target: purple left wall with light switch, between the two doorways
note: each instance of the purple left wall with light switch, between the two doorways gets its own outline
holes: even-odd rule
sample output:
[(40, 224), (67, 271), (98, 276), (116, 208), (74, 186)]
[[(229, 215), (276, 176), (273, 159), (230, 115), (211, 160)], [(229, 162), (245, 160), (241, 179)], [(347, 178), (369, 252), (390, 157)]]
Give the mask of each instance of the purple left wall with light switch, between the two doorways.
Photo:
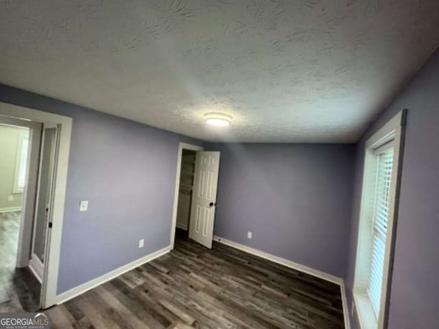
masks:
[(169, 245), (178, 141), (198, 141), (8, 86), (0, 101), (73, 118), (58, 293)]

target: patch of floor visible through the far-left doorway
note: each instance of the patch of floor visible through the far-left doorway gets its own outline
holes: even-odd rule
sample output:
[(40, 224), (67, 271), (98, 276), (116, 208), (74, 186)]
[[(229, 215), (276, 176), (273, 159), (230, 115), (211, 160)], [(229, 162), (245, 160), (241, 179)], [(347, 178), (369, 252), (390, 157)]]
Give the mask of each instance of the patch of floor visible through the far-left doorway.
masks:
[(40, 282), (29, 269), (16, 269), (21, 212), (0, 213), (0, 313), (34, 312)]

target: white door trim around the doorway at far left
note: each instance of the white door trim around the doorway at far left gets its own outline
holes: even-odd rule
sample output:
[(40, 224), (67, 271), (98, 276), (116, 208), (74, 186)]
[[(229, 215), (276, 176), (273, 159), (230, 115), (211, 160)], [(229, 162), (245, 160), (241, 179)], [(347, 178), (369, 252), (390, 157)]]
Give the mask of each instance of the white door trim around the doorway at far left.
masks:
[(62, 221), (64, 219), (72, 119), (59, 114), (23, 108), (3, 102), (0, 102), (0, 115), (25, 121), (54, 124), (58, 126), (60, 133), (54, 175), (54, 199), (51, 204), (53, 227), (47, 234), (45, 251), (45, 260), (47, 261), (40, 296), (40, 307), (47, 308), (58, 302), (58, 269), (60, 265)]

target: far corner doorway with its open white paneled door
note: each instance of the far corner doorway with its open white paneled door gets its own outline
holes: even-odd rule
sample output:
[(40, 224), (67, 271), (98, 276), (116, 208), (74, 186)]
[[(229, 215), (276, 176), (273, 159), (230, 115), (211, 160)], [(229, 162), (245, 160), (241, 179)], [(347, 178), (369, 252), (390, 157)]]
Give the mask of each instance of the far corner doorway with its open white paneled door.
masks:
[(215, 221), (219, 152), (180, 143), (178, 148), (174, 218), (175, 239), (191, 239), (211, 248)]

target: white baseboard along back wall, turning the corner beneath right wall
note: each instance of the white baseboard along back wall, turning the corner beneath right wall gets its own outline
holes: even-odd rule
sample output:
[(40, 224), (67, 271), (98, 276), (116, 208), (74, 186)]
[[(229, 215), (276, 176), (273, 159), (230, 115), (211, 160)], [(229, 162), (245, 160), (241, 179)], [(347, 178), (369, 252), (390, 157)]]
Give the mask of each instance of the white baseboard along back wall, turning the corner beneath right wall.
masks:
[(221, 236), (213, 236), (213, 241), (223, 243), (224, 245), (234, 247), (236, 249), (242, 250), (243, 252), (248, 252), (249, 254), (259, 256), (259, 257), (265, 258), (267, 260), (271, 260), (273, 263), (281, 264), (283, 266), (289, 267), (290, 269), (296, 269), (297, 271), (301, 271), (301, 272), (307, 273), (311, 276), (316, 276), (317, 278), (320, 278), (320, 279), (323, 279), (323, 280), (340, 285), (340, 292), (342, 294), (342, 304), (343, 304), (344, 326), (346, 329), (351, 328), (351, 325), (349, 322), (348, 305), (347, 305), (347, 300), (346, 300), (346, 289), (344, 288), (344, 280), (342, 278), (339, 278), (338, 276), (333, 276), (333, 275), (331, 275), (329, 273), (325, 273), (323, 271), (319, 271), (318, 269), (312, 269), (311, 267), (307, 267), (305, 265), (294, 263), (291, 260), (287, 260), (285, 258), (274, 256), (274, 255), (268, 254), (266, 252), (261, 252), (261, 250), (254, 249), (254, 248), (248, 247), (246, 245), (241, 245), (241, 243), (237, 243), (234, 241), (224, 239)]

